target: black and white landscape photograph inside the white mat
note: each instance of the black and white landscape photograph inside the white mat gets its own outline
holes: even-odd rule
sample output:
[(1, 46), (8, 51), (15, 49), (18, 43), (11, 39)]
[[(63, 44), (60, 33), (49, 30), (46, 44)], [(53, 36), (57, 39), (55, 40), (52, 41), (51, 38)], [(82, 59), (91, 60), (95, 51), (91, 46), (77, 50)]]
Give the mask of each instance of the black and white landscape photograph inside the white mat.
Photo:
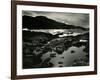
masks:
[(89, 66), (89, 14), (22, 11), (23, 69)]

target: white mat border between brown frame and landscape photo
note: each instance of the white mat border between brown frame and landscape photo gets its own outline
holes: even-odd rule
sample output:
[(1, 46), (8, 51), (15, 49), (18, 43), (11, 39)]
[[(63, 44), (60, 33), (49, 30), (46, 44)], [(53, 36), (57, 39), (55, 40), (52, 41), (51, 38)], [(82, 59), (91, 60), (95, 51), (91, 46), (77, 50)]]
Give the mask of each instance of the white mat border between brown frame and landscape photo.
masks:
[[(22, 69), (22, 10), (48, 11), (48, 12), (74, 12), (90, 14), (90, 66), (82, 67), (63, 67), (63, 68), (41, 68), (41, 69)], [(50, 73), (69, 73), (94, 71), (94, 9), (81, 8), (58, 8), (43, 6), (17, 5), (17, 75), (37, 75)]]

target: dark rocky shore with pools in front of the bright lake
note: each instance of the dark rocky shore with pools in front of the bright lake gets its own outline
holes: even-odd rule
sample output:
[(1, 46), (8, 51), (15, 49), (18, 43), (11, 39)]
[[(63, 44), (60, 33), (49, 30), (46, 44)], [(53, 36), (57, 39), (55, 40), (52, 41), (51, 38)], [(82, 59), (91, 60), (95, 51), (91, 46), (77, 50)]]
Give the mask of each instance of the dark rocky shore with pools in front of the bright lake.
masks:
[(64, 37), (43, 32), (29, 34), (23, 38), (23, 68), (89, 65), (89, 33)]

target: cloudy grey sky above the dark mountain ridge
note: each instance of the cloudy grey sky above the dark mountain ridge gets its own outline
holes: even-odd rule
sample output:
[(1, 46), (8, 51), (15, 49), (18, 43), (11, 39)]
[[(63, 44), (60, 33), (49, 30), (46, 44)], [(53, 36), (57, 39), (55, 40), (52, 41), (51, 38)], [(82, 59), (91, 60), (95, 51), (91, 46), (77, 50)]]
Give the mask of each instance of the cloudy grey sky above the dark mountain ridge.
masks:
[(89, 28), (89, 14), (84, 13), (64, 13), (64, 12), (40, 12), (40, 11), (22, 11), (22, 15), (27, 16), (45, 16), (69, 25)]

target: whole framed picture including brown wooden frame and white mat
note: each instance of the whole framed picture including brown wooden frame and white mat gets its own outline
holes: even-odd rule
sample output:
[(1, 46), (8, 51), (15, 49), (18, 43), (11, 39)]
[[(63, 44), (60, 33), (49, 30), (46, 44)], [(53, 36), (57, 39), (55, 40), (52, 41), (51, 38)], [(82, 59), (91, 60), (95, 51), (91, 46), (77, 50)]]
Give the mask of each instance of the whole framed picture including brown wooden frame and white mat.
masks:
[(13, 79), (97, 73), (97, 7), (12, 2)]

